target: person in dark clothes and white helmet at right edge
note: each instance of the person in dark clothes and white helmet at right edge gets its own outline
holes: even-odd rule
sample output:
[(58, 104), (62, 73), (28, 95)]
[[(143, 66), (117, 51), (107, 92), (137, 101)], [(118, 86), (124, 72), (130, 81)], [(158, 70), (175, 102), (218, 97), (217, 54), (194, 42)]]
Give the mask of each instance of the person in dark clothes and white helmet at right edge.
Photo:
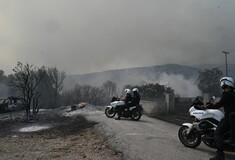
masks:
[[(223, 107), (225, 116), (219, 122), (215, 131), (215, 143), (216, 143), (216, 156), (210, 158), (210, 160), (224, 160), (224, 146), (223, 146), (223, 135), (225, 132), (230, 130), (229, 116), (232, 112), (235, 112), (235, 92), (234, 92), (234, 81), (231, 77), (223, 77), (220, 79), (220, 86), (223, 89), (223, 94), (219, 102), (215, 104), (208, 104), (206, 108), (218, 109)], [(234, 122), (233, 122), (234, 123)], [(233, 129), (234, 130), (234, 129)], [(235, 135), (233, 135), (235, 136)]]

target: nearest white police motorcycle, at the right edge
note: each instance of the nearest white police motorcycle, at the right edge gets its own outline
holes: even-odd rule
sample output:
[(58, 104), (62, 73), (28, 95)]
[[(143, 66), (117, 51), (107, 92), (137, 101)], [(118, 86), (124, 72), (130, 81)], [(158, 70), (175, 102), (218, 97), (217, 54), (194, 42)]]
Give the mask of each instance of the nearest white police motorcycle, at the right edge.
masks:
[[(215, 97), (212, 98), (214, 100)], [(193, 123), (183, 123), (179, 128), (178, 137), (183, 145), (196, 148), (201, 141), (208, 147), (215, 148), (214, 133), (224, 114), (218, 109), (204, 109), (202, 101), (197, 97), (189, 109), (190, 116), (194, 118)], [(230, 132), (225, 133), (224, 139), (230, 137)], [(225, 143), (226, 151), (235, 151), (233, 144)]]

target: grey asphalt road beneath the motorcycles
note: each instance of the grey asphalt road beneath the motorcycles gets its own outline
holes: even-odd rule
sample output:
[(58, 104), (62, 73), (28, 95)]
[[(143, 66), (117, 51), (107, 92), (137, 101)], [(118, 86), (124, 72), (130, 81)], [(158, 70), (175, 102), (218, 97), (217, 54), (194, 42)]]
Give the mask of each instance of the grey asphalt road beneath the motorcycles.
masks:
[[(180, 126), (143, 115), (140, 121), (107, 118), (103, 111), (82, 112), (99, 122), (96, 129), (126, 160), (208, 160), (215, 150), (204, 144), (196, 149), (184, 147), (178, 139)], [(235, 153), (226, 152), (226, 160)]]

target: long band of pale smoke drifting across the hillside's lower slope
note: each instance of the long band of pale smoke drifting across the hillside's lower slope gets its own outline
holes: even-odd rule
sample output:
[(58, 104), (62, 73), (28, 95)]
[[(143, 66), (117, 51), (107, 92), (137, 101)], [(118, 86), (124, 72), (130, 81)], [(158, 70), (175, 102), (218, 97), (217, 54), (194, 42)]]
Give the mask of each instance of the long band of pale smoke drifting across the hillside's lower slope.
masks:
[(118, 94), (123, 93), (123, 89), (126, 85), (144, 85), (144, 84), (156, 84), (165, 85), (171, 87), (176, 96), (180, 97), (195, 97), (200, 96), (202, 93), (198, 88), (196, 82), (197, 76), (190, 76), (190, 78), (185, 78), (184, 75), (180, 73), (169, 74), (166, 72), (156, 71), (133, 71), (125, 70), (122, 72), (101, 72), (99, 74), (94, 74), (93, 76), (81, 75), (73, 79), (73, 77), (65, 79), (65, 88), (72, 89), (76, 83), (87, 84), (91, 86), (101, 86), (107, 80), (111, 80), (117, 84)]

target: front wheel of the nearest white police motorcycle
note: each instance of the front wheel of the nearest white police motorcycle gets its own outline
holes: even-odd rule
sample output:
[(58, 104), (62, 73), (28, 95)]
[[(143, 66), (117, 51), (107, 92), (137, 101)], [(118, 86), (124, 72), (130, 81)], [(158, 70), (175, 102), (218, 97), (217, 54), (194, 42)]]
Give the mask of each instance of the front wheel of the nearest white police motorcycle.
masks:
[(201, 136), (198, 135), (195, 131), (188, 133), (188, 126), (181, 126), (178, 131), (178, 137), (180, 142), (189, 148), (196, 148), (201, 144)]

